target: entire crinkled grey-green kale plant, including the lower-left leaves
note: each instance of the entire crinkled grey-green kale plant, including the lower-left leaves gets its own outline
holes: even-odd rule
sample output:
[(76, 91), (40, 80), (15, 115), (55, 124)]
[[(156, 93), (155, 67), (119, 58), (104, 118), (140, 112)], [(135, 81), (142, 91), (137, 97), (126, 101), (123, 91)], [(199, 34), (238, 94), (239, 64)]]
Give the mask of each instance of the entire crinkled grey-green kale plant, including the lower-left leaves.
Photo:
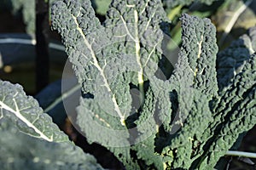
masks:
[[(221, 169), (219, 160), (255, 125), (254, 28), (218, 54), (211, 20), (183, 14), (174, 65), (165, 44), (172, 41), (170, 21), (160, 0), (113, 0), (103, 24), (90, 0), (61, 0), (52, 6), (51, 20), (82, 90), (77, 127), (126, 169)], [(0, 109), (7, 138), (0, 139), (1, 151), (10, 148), (10, 139), (42, 150), (26, 152), (15, 142), (13, 159), (0, 156), (5, 169), (25, 162), (43, 169), (102, 168), (20, 86), (0, 82)], [(56, 151), (57, 161), (45, 163), (55, 158), (47, 159), (45, 150)], [(28, 161), (20, 159), (23, 154)]]

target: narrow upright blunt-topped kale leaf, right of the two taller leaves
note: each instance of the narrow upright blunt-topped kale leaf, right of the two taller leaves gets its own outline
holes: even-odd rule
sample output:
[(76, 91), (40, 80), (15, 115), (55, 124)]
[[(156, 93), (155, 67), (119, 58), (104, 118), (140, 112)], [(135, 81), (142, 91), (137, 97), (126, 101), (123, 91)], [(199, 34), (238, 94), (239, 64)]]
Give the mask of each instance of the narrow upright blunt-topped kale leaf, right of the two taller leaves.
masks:
[[(218, 52), (215, 37), (216, 29), (209, 19), (201, 20), (183, 14), (181, 20), (183, 44), (180, 58), (185, 55), (189, 61), (189, 69), (194, 75), (188, 78), (192, 79), (193, 88), (200, 90), (203, 94), (208, 94), (209, 99), (212, 99), (212, 97), (218, 95), (217, 73), (215, 70), (215, 60)], [(178, 69), (184, 70), (183, 68)], [(189, 71), (187, 70), (184, 75), (190, 75)], [(180, 83), (180, 85), (183, 85), (183, 83)]]

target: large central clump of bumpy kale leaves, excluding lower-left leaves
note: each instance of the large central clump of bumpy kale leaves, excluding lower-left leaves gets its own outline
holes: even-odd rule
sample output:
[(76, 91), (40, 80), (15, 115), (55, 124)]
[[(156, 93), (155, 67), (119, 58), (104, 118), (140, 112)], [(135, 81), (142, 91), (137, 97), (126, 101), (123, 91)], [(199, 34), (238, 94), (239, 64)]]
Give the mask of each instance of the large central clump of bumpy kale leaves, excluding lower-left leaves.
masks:
[(255, 124), (255, 56), (218, 88), (215, 27), (188, 14), (181, 20), (182, 47), (166, 78), (157, 74), (168, 26), (160, 0), (113, 0), (103, 25), (89, 0), (52, 8), (53, 27), (92, 96), (81, 99), (77, 123), (127, 169), (212, 169)]

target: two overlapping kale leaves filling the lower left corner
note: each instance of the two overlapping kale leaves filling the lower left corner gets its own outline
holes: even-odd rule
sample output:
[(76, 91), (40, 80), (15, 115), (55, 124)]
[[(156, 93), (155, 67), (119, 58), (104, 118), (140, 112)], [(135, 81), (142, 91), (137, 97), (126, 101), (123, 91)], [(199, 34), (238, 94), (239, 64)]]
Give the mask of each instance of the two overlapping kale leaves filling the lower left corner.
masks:
[(0, 80), (0, 108), (1, 169), (102, 169), (20, 85)]

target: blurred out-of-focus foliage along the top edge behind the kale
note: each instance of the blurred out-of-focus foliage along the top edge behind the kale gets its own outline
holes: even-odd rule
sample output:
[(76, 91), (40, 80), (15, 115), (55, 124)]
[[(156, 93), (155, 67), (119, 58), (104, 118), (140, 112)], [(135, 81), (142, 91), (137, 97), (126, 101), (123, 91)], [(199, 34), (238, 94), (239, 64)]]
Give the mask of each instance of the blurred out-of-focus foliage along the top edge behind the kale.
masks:
[[(49, 6), (55, 1), (49, 0)], [(218, 38), (223, 38), (222, 44), (230, 42), (228, 37), (236, 39), (241, 36), (256, 23), (256, 1), (253, 0), (162, 0), (162, 2), (168, 18), (172, 21), (170, 27), (172, 37), (178, 37), (179, 17), (183, 13), (211, 18), (217, 26)], [(111, 0), (91, 0), (91, 3), (96, 10), (96, 15), (104, 21)], [(23, 20), (26, 33), (31, 36), (35, 32), (34, 8), (35, 0), (2, 0), (0, 2), (1, 14), (11, 12), (17, 19)], [(232, 22), (231, 26), (230, 22)], [(230, 31), (231, 34), (224, 38), (222, 34), (225, 31)], [(228, 41), (225, 42), (225, 40)]]

